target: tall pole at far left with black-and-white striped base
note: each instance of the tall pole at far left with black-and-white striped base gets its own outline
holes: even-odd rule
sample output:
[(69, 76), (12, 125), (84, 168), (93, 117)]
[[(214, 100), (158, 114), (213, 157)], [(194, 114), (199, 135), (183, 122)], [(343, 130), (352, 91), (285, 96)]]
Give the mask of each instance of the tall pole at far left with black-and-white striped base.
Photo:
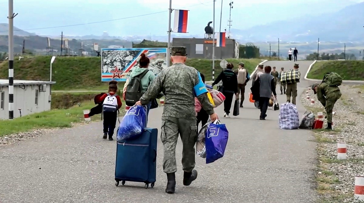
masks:
[(9, 0), (9, 120), (14, 119), (14, 17), (13, 0)]

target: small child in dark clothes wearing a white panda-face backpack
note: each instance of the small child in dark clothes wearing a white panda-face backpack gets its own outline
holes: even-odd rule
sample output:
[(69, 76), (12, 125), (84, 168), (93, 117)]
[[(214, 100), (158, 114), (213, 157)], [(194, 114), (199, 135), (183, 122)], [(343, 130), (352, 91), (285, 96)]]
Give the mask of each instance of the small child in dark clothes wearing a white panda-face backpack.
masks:
[(120, 97), (116, 94), (116, 92), (118, 91), (117, 84), (118, 81), (110, 81), (108, 93), (100, 97), (99, 103), (102, 103), (102, 113), (104, 118), (104, 135), (102, 139), (107, 139), (108, 135), (109, 140), (113, 140), (112, 135), (114, 135), (118, 111), (122, 106)]

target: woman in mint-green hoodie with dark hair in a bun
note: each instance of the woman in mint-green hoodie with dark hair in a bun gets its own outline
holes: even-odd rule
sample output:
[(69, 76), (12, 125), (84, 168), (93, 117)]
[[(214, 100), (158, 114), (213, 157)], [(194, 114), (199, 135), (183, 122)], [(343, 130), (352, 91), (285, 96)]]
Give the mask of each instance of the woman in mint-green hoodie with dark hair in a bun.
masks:
[[(135, 67), (132, 72), (130, 73), (130, 76), (128, 78), (129, 83), (125, 84), (126, 87), (124, 87), (124, 91), (126, 94), (126, 98), (127, 97), (139, 97), (138, 95), (140, 95), (140, 97), (147, 91), (148, 86), (154, 81), (155, 75), (153, 73), (153, 71), (148, 70), (150, 64), (150, 60), (149, 58), (145, 55), (145, 53), (141, 54), (141, 58), (139, 59), (139, 66)], [(141, 88), (141, 92), (137, 93), (137, 92), (128, 92), (128, 85), (132, 85), (130, 84), (133, 80), (133, 78), (135, 77), (140, 77), (140, 83), (139, 86)], [(134, 80), (135, 81), (135, 80)], [(128, 95), (127, 95), (128, 94)], [(133, 95), (132, 95), (133, 94)], [(137, 94), (137, 95), (134, 95)], [(136, 101), (139, 101), (139, 98), (136, 98)], [(125, 100), (127, 101), (127, 100)], [(150, 110), (150, 106), (151, 106), (151, 102), (149, 102), (147, 104), (147, 117), (149, 115), (149, 110)], [(147, 118), (148, 120), (148, 118)]]

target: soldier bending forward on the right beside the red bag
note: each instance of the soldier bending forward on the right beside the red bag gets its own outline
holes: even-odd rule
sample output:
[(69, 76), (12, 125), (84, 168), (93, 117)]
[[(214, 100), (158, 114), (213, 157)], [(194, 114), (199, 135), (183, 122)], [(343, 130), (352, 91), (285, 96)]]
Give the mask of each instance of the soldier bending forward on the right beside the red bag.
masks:
[(341, 97), (341, 92), (337, 86), (329, 86), (326, 82), (321, 84), (313, 84), (311, 89), (314, 94), (317, 94), (318, 101), (325, 106), (327, 115), (327, 130), (332, 129), (332, 109), (337, 100)]

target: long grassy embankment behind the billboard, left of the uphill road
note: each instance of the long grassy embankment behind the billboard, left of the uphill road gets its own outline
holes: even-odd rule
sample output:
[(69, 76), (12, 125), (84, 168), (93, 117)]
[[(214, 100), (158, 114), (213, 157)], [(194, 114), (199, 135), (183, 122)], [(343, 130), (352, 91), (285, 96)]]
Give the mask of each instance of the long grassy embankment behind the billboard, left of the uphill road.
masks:
[[(49, 80), (50, 56), (29, 57), (14, 61), (15, 80)], [(261, 62), (260, 59), (237, 60), (228, 59), (228, 62), (237, 64), (243, 61), (246, 69), (253, 69)], [(215, 61), (215, 77), (221, 72), (220, 60)], [(212, 79), (212, 60), (187, 59), (187, 65), (195, 67), (206, 77)], [(237, 67), (237, 65), (234, 65)], [(8, 78), (8, 62), (0, 63), (0, 78)], [(53, 90), (69, 89), (105, 89), (106, 83), (101, 82), (100, 57), (57, 57), (52, 65), (52, 80), (56, 84)]]

